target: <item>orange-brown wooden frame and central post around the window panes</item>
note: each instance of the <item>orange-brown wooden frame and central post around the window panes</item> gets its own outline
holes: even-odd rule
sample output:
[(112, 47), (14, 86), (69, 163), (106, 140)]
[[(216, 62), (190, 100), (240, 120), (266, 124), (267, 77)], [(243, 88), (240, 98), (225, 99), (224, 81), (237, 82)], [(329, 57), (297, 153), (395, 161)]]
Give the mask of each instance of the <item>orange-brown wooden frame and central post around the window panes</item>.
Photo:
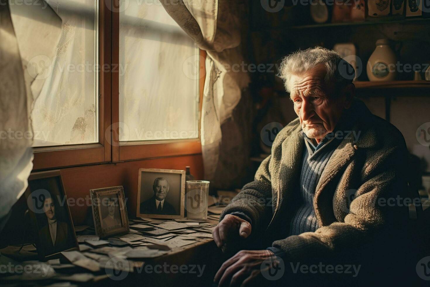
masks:
[[(118, 9), (114, 9), (119, 5), (119, 0), (99, 0), (98, 63), (101, 67), (119, 65), (120, 13)], [(206, 51), (200, 50), (200, 59), (206, 59)], [(200, 61), (199, 137), (197, 139), (120, 143), (118, 137), (119, 72), (118, 69), (113, 68), (108, 70), (101, 69), (99, 72), (98, 143), (34, 147), (33, 170), (201, 154), (200, 124), (206, 77), (204, 61)]]

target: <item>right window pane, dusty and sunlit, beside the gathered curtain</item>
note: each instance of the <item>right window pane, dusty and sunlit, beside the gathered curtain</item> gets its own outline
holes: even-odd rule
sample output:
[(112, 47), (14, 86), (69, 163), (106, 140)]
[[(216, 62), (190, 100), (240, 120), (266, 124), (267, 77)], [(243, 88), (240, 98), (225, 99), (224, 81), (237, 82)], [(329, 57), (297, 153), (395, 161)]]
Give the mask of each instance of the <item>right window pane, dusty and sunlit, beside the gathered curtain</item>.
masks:
[(184, 68), (199, 49), (160, 2), (145, 3), (120, 9), (120, 141), (198, 138), (198, 74)]

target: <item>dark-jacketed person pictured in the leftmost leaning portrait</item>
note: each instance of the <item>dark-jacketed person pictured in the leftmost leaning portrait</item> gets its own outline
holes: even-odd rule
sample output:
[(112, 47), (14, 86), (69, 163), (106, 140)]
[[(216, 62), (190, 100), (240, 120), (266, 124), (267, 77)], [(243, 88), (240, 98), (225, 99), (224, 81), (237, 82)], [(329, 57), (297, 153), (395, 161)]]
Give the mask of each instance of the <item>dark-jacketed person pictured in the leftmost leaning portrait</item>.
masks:
[(39, 230), (40, 243), (45, 254), (58, 253), (74, 247), (71, 228), (57, 216), (58, 209), (58, 204), (52, 196), (45, 198), (43, 212), (47, 224)]

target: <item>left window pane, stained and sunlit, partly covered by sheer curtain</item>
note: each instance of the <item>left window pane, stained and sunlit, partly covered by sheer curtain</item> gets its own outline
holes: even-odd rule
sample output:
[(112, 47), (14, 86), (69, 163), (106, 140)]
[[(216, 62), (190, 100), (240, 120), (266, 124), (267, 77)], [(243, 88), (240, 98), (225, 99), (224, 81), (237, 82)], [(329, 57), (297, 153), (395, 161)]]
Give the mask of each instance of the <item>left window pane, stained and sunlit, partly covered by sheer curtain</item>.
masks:
[(34, 102), (33, 146), (98, 142), (97, 2), (49, 0), (62, 20), (61, 37)]

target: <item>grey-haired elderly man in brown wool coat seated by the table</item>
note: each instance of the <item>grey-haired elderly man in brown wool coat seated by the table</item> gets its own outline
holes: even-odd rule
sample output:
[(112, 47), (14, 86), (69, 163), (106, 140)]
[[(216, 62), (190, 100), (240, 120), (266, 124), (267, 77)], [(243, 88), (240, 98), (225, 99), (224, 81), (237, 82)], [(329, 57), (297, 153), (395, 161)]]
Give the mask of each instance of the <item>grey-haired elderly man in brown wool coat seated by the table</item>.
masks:
[(390, 228), (407, 220), (407, 207), (385, 201), (405, 196), (403, 136), (354, 98), (353, 77), (343, 77), (344, 67), (352, 69), (321, 47), (283, 60), (280, 74), (298, 118), (277, 134), (255, 180), (225, 208), (213, 231), (225, 250), (238, 244), (262, 250), (241, 250), (224, 262), (214, 279), (220, 286), (253, 282), (274, 255), (289, 275), (304, 262), (307, 268), (342, 262), (335, 258), (359, 253), (378, 236), (388, 238)]

